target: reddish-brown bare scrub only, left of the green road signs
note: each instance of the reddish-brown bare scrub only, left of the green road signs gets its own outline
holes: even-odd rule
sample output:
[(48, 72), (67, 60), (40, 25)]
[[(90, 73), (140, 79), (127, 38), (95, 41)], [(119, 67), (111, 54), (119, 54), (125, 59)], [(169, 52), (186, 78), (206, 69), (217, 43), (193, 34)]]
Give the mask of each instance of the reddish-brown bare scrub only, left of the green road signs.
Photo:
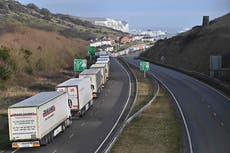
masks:
[(57, 71), (70, 66), (74, 57), (85, 58), (87, 53), (88, 42), (81, 39), (25, 26), (17, 26), (15, 31), (0, 35), (0, 46), (9, 48), (18, 72), (28, 66), (34, 71)]

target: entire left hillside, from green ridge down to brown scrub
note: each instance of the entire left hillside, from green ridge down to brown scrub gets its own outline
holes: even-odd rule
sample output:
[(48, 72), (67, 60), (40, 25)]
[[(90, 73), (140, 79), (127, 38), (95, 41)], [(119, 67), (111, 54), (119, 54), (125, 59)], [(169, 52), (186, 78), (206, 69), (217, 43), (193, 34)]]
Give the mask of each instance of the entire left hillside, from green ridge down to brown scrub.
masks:
[(91, 38), (123, 34), (14, 0), (0, 0), (0, 20), (0, 89), (17, 75), (72, 66), (73, 58), (85, 58)]

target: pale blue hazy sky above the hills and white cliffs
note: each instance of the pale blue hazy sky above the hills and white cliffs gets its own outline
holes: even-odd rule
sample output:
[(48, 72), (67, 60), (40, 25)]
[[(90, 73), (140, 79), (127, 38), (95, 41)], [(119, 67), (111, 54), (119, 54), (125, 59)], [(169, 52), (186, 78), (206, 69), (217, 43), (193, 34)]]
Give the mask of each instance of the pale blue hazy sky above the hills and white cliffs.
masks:
[(200, 25), (230, 12), (230, 0), (19, 0), (53, 13), (80, 17), (109, 17), (127, 21), (131, 28), (169, 29)]

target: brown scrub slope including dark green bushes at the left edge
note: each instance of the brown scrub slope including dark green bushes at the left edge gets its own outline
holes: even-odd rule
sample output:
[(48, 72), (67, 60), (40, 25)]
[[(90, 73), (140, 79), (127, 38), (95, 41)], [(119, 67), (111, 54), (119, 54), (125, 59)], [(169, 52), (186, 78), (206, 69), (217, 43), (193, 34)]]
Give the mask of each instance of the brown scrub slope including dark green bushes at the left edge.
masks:
[[(60, 72), (72, 66), (74, 58), (86, 56), (88, 42), (85, 40), (26, 26), (12, 29), (15, 32), (0, 35), (1, 84), (21, 74), (37, 76), (39, 73)], [(23, 78), (17, 78), (17, 82), (20, 79)]]

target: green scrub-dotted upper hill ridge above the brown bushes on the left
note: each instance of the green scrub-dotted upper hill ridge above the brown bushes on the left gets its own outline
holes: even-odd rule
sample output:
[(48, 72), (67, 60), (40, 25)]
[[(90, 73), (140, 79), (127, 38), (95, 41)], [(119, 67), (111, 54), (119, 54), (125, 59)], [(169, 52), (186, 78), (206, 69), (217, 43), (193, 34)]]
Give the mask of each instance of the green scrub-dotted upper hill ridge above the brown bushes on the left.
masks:
[[(121, 36), (121, 31), (95, 26), (88, 21), (65, 14), (53, 14), (35, 4), (22, 5), (14, 0), (0, 0), (0, 28), (22, 24), (32, 28), (57, 32), (65, 37), (89, 40), (101, 36)], [(4, 31), (1, 31), (1, 33)]]

